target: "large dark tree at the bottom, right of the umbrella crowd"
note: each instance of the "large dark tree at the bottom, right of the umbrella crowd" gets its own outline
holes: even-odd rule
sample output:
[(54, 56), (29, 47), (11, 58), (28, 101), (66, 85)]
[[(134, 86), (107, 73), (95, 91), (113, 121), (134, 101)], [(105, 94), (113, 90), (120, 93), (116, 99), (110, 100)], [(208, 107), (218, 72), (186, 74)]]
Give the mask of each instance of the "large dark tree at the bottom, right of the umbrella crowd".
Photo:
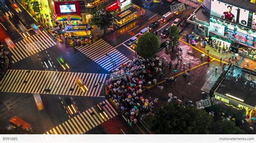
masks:
[(212, 118), (194, 106), (171, 103), (152, 116), (151, 131), (157, 134), (205, 134)]

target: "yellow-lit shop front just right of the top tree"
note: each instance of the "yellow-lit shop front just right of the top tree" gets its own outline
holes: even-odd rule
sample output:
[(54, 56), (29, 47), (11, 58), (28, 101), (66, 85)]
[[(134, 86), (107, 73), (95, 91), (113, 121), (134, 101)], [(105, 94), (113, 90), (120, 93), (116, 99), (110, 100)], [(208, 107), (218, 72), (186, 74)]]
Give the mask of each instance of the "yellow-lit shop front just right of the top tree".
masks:
[(118, 13), (114, 19), (116, 19), (117, 26), (121, 27), (137, 18), (137, 10), (130, 7), (125, 11)]

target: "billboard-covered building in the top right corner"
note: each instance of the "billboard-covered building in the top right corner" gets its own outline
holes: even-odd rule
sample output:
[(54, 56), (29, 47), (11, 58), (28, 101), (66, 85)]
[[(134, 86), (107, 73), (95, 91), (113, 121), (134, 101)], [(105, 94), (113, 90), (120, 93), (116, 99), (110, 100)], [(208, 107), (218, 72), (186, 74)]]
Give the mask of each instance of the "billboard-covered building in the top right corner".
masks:
[[(211, 6), (210, 6), (211, 5)], [(207, 10), (211, 7), (210, 19)], [(187, 19), (200, 37), (221, 41), (234, 53), (256, 60), (255, 1), (204, 1)]]

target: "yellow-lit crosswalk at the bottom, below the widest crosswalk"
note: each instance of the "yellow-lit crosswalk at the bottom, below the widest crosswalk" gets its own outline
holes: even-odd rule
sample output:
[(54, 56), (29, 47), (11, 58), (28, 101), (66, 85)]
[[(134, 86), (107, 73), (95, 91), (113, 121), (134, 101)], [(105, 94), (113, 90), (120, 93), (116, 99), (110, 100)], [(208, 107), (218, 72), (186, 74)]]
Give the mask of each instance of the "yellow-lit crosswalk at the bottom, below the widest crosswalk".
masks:
[(105, 121), (118, 115), (116, 110), (113, 109), (113, 106), (105, 100), (102, 103), (103, 110), (106, 115), (103, 114), (104, 118), (99, 115), (99, 112), (95, 108), (90, 108), (79, 115), (65, 121), (62, 124), (53, 127), (51, 130), (47, 131), (44, 134), (80, 134), (86, 133), (92, 128), (104, 123)]

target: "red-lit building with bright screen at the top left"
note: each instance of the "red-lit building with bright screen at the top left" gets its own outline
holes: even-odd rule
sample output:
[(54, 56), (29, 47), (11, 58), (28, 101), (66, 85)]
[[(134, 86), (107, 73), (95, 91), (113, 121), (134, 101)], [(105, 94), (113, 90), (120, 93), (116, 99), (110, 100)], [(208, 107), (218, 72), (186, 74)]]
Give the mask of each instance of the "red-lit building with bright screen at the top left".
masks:
[(104, 5), (106, 9), (122, 10), (131, 4), (131, 0), (49, 0), (53, 19), (57, 21), (76, 21), (83, 24), (90, 22), (91, 10)]

